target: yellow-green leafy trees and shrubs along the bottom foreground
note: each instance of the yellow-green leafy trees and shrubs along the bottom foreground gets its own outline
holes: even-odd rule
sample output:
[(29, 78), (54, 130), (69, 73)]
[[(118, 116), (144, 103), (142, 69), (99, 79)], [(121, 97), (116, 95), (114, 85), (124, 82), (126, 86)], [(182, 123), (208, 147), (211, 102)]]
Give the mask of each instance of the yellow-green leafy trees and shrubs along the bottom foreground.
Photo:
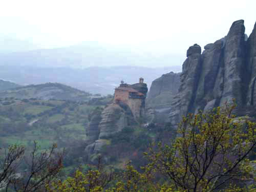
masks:
[(102, 169), (86, 174), (77, 170), (74, 177), (48, 185), (47, 191), (255, 192), (255, 186), (243, 183), (255, 181), (248, 160), (256, 145), (255, 123), (234, 121), (233, 109), (234, 105), (184, 117), (171, 145), (159, 143), (145, 153), (149, 163), (142, 172), (131, 163), (118, 177)]

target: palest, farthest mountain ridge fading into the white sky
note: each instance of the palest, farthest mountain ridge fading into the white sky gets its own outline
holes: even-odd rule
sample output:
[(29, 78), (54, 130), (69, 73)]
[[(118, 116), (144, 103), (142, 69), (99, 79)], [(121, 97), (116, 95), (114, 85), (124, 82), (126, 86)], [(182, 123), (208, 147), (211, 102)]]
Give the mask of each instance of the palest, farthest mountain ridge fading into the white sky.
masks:
[[(1, 46), (2, 42), (2, 46)], [(15, 44), (16, 42), (16, 44)], [(6, 50), (4, 44), (6, 43)], [(37, 67), (110, 67), (110, 66), (171, 66), (180, 65), (183, 56), (157, 53), (142, 47), (111, 46), (95, 41), (80, 45), (35, 49), (28, 42), (0, 39), (1, 65)], [(13, 45), (13, 46), (12, 46)], [(154, 47), (150, 45), (151, 47)], [(11, 50), (13, 47), (13, 50)], [(23, 48), (23, 49), (22, 49)], [(33, 49), (34, 48), (34, 49)], [(28, 51), (29, 49), (33, 49)], [(160, 48), (159, 48), (160, 49)], [(22, 51), (24, 50), (24, 51)], [(156, 49), (157, 50), (157, 49)], [(4, 53), (3, 53), (4, 52)]]

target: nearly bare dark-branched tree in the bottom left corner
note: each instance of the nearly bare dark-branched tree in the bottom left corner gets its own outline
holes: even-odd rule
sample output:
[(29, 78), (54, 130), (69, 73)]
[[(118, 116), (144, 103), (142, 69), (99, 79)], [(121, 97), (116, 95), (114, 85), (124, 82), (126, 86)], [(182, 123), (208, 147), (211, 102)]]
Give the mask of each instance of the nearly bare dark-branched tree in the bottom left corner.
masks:
[[(12, 189), (19, 192), (32, 192), (44, 190), (47, 183), (57, 178), (62, 167), (63, 152), (55, 153), (56, 144), (50, 150), (40, 150), (37, 143), (30, 155), (25, 155), (25, 148), (11, 145), (7, 155), (1, 161), (0, 173), (1, 188)], [(22, 173), (18, 173), (19, 165), (25, 166)]]

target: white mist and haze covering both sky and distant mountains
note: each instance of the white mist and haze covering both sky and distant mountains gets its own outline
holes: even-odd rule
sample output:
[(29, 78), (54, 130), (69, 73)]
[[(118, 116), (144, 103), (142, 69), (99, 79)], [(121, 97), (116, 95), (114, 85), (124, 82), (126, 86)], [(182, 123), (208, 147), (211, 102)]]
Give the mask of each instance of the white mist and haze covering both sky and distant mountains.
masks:
[[(15, 6), (14, 6), (15, 5)], [(112, 94), (120, 80), (151, 82), (181, 72), (189, 46), (203, 47), (244, 19), (255, 1), (4, 1), (0, 78), (20, 85), (60, 82)], [(226, 16), (228, 15), (228, 17)]]

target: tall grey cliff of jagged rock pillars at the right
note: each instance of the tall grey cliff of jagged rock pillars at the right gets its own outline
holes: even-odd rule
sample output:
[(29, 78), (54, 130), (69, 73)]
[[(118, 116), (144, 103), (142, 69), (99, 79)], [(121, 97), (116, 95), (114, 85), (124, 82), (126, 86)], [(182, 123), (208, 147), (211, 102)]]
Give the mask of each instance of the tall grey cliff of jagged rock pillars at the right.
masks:
[[(244, 20), (238, 20), (232, 24), (227, 36), (204, 46), (202, 54), (199, 45), (189, 47), (182, 66), (179, 91), (175, 96), (168, 96), (172, 103), (167, 122), (177, 127), (183, 115), (208, 111), (225, 102), (230, 103), (232, 99), (238, 104), (237, 114), (254, 114), (256, 24), (248, 39), (244, 31)], [(148, 95), (148, 104), (162, 89), (161, 78), (154, 81), (156, 86)], [(168, 89), (172, 91), (172, 88)]]

